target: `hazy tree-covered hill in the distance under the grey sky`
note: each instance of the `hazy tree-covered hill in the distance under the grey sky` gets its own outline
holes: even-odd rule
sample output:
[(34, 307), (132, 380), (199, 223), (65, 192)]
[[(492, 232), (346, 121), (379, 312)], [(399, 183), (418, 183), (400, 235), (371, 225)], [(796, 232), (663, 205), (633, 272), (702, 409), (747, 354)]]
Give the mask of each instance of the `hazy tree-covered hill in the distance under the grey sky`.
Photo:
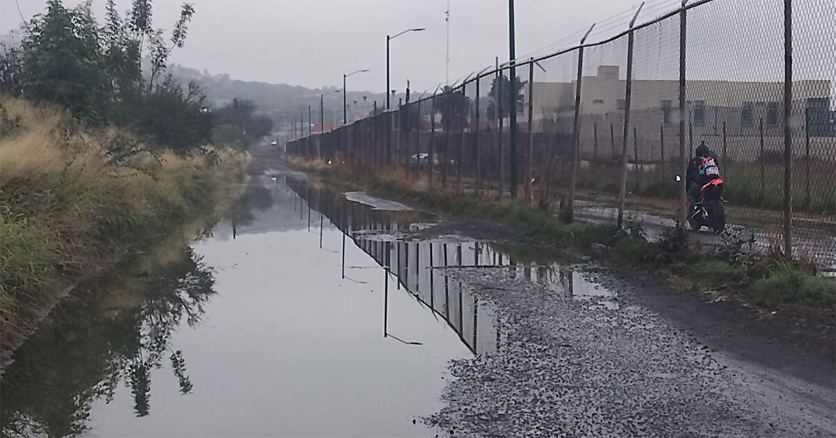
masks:
[[(187, 68), (175, 64), (169, 68), (175, 78), (183, 83), (196, 79), (206, 88), (206, 96), (210, 105), (220, 107), (232, 101), (233, 98), (252, 100), (257, 105), (258, 112), (273, 118), (279, 125), (293, 123), (294, 118), (308, 118), (308, 105), (311, 106), (314, 123), (319, 123), (319, 95), (324, 98), (326, 123), (334, 121), (334, 117), (342, 122), (343, 93), (335, 87), (304, 88), (286, 83), (247, 82), (230, 78), (228, 74), (210, 74), (196, 68)], [(364, 99), (365, 97), (365, 99)], [(395, 97), (402, 97), (400, 95)], [(370, 113), (375, 99), (378, 106), (385, 102), (384, 93), (370, 93), (368, 91), (349, 91), (347, 103), (349, 105), (349, 122), (352, 112)], [(354, 102), (356, 103), (356, 106)], [(356, 108), (356, 109), (353, 109)]]

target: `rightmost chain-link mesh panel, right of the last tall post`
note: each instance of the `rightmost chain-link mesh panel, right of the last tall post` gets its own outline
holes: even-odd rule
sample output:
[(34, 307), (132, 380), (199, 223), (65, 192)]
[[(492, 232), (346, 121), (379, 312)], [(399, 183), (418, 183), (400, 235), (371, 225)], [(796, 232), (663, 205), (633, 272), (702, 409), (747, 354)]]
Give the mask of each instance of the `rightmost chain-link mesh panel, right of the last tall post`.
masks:
[(796, 252), (836, 269), (836, 3), (793, 2), (793, 232)]

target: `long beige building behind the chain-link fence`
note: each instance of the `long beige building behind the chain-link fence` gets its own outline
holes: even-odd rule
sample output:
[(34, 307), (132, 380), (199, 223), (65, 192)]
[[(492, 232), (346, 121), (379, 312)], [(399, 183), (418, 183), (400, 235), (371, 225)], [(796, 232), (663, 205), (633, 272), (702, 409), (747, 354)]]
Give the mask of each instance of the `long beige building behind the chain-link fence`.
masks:
[[(576, 82), (535, 82), (533, 86), (534, 131), (571, 133)], [(625, 80), (619, 78), (618, 66), (599, 66), (595, 76), (583, 78), (581, 154), (584, 158), (611, 159), (613, 150), (616, 156), (620, 155), (624, 87)], [(772, 137), (783, 135), (783, 83), (691, 80), (686, 83), (686, 97), (689, 145), (705, 141), (712, 149), (719, 150), (725, 138), (730, 157), (752, 160), (760, 154), (761, 126), (764, 143), (777, 144)], [(528, 130), (529, 99), (529, 88), (524, 87), (520, 121), (525, 130)], [(634, 79), (631, 99), (630, 157), (638, 154), (640, 162), (659, 161), (664, 154), (665, 160), (673, 159), (679, 148), (679, 82)], [(806, 128), (810, 137), (816, 138), (813, 143), (832, 145), (836, 132), (830, 108), (830, 81), (795, 82), (793, 100), (790, 123), (796, 133), (794, 137), (803, 139)], [(825, 146), (817, 150), (826, 153)]]

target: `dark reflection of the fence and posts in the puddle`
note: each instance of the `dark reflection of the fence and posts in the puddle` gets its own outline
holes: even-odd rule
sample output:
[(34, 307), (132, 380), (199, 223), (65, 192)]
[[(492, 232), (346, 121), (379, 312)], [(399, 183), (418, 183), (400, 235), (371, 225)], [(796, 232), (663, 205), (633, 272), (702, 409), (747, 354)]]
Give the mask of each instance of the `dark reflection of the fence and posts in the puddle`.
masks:
[[(298, 205), (294, 204), (293, 208), (300, 212), (307, 210), (308, 223), (312, 220), (311, 211), (321, 214), (313, 219), (314, 223), (317, 220), (320, 223), (320, 243), (322, 220), (328, 218), (344, 239), (348, 236), (395, 277), (395, 284), (390, 285), (387, 275), (386, 294), (391, 288), (405, 289), (419, 304), (444, 320), (474, 353), (496, 351), (502, 342), (502, 334), (497, 328), (495, 305), (488, 300), (479, 300), (466, 284), (452, 275), (451, 270), (456, 268), (506, 269), (512, 278), (541, 284), (563, 298), (593, 300), (608, 308), (617, 306), (608, 289), (589, 282), (583, 274), (568, 266), (553, 262), (541, 264), (533, 259), (517, 260), (512, 255), (516, 253), (493, 244), (406, 239), (405, 231), (429, 219), (425, 213), (377, 210), (348, 201), (343, 194), (322, 186), (289, 179), (287, 184), (299, 195)], [(304, 220), (301, 215), (299, 219)], [(342, 252), (345, 253), (344, 246)], [(388, 309), (385, 312), (386, 321)], [(384, 333), (387, 333), (386, 328)]]

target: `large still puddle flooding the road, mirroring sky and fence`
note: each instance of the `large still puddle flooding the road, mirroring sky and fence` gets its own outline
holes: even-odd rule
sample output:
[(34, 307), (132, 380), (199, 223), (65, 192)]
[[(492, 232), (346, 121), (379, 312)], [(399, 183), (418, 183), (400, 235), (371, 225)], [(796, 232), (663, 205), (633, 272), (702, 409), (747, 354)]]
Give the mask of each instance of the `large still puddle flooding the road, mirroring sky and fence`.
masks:
[(615, 306), (524, 250), (415, 239), (431, 215), (358, 196), (253, 181), (191, 249), (85, 286), (15, 354), (3, 435), (431, 436), (447, 362), (502, 341), (497, 310), (450, 269)]

